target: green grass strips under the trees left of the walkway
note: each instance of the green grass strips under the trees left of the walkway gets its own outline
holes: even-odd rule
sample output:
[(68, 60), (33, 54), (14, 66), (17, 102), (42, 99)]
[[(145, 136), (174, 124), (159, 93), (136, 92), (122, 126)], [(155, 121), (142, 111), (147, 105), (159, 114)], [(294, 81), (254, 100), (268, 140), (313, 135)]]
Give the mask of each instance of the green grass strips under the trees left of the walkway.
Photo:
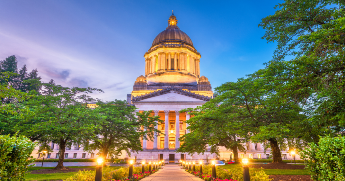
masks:
[[(111, 168), (119, 169), (122, 166), (110, 166)], [(29, 167), (30, 170), (40, 170), (40, 169), (53, 169), (55, 168), (50, 166), (31, 166)], [(68, 168), (96, 168), (96, 166), (68, 166)], [(94, 171), (92, 171), (94, 172)], [(62, 180), (62, 179), (68, 179), (72, 177), (76, 172), (69, 172), (69, 173), (42, 173), (42, 174), (30, 174), (28, 173), (25, 177), (26, 180), (32, 180), (32, 181), (43, 181), (43, 180)]]

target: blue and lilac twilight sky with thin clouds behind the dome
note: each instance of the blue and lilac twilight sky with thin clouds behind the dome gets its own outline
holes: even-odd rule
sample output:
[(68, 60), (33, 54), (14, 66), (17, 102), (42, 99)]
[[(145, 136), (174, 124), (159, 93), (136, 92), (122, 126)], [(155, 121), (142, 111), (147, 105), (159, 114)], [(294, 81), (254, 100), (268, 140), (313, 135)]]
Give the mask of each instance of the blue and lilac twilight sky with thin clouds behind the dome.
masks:
[(145, 73), (144, 54), (167, 27), (171, 11), (201, 54), (200, 76), (212, 87), (265, 67), (275, 43), (261, 39), (261, 19), (280, 0), (132, 1), (2, 0), (0, 60), (36, 69), (42, 81), (91, 87), (105, 101), (126, 99)]

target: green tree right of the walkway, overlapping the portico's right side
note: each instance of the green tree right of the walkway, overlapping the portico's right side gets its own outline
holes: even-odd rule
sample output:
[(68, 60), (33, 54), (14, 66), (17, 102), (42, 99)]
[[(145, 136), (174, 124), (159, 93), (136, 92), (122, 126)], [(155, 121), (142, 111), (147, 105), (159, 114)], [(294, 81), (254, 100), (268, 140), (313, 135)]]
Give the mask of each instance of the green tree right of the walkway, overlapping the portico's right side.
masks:
[[(219, 96), (217, 97), (219, 98)], [(183, 143), (177, 152), (204, 154), (210, 147), (210, 153), (219, 155), (219, 146), (231, 149), (234, 153), (235, 163), (240, 163), (237, 150), (244, 151), (242, 143), (249, 138), (250, 125), (247, 125), (236, 114), (237, 106), (221, 104), (219, 100), (212, 99), (205, 105), (197, 108), (181, 110), (190, 111), (194, 115), (187, 123), (190, 133), (183, 135), (180, 141)]]

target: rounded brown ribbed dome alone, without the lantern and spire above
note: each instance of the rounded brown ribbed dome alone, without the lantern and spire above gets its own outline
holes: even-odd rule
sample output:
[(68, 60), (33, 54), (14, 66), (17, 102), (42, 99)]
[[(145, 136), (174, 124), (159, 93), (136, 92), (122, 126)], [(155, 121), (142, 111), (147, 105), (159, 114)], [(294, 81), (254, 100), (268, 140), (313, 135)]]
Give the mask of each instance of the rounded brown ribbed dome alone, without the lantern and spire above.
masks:
[(192, 40), (189, 38), (189, 36), (177, 29), (177, 28), (169, 28), (164, 31), (162, 31), (160, 34), (156, 36), (156, 38), (153, 40), (152, 46), (160, 43), (168, 43), (168, 42), (181, 42), (188, 44), (190, 46), (193, 46)]

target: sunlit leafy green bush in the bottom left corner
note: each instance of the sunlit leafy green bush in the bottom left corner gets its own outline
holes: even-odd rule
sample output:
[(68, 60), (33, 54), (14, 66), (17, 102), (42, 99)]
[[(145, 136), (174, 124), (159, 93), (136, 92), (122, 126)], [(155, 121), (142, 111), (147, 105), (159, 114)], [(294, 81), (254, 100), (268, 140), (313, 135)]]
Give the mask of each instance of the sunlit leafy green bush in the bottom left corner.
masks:
[(34, 162), (31, 156), (34, 147), (35, 144), (24, 136), (0, 135), (0, 180), (25, 180), (28, 165)]

